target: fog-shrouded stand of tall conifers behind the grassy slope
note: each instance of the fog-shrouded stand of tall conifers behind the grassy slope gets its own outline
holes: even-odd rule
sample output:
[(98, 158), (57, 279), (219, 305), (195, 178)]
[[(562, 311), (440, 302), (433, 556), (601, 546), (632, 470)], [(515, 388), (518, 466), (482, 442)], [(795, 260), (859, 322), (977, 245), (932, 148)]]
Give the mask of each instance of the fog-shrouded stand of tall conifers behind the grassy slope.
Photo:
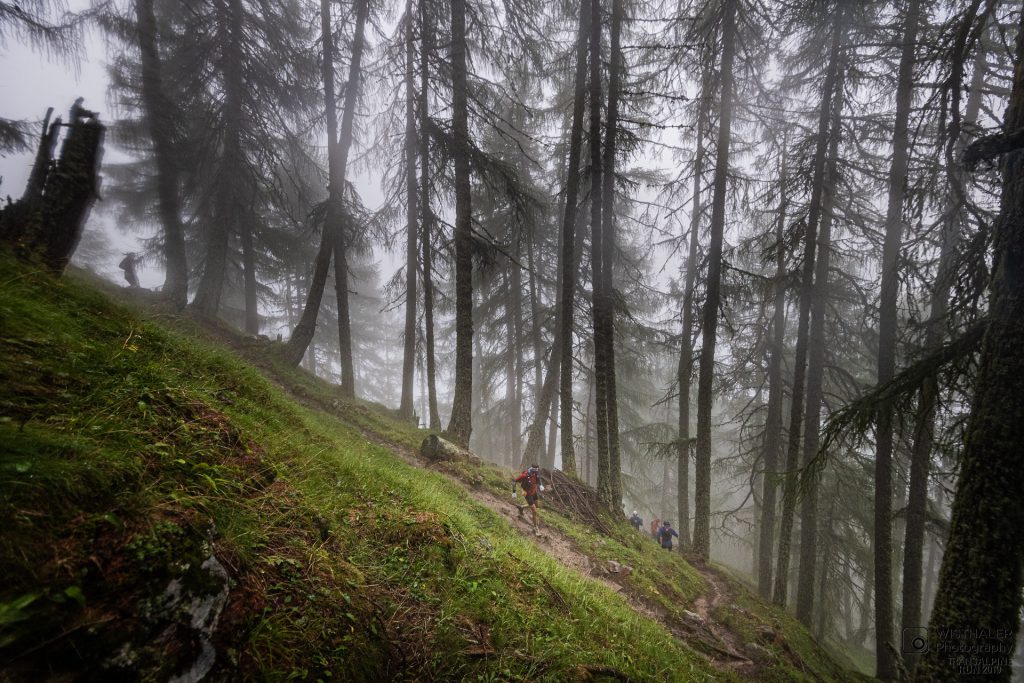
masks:
[[(885, 680), (962, 673), (906, 629), (1017, 639), (1021, 22), (1009, 0), (0, 2), (0, 38), (54, 58), (104, 32), (129, 161), (97, 211), (156, 229), (175, 306), (671, 519)], [(7, 152), (37, 135), (0, 120)]]

